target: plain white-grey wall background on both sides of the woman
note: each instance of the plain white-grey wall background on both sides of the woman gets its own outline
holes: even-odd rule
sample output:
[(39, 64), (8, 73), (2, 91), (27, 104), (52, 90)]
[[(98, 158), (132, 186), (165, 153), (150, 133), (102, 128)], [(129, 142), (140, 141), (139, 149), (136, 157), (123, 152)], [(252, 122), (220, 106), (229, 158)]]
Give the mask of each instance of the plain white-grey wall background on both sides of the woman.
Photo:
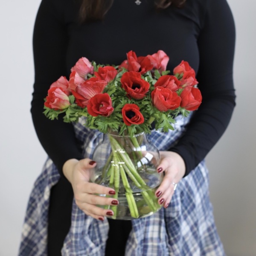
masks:
[[(29, 112), (32, 30), (39, 3), (0, 2), (0, 256), (17, 255), (29, 193), (46, 159)], [(210, 195), (227, 255), (256, 256), (256, 1), (229, 4), (237, 33), (237, 107), (229, 128), (207, 156)]]

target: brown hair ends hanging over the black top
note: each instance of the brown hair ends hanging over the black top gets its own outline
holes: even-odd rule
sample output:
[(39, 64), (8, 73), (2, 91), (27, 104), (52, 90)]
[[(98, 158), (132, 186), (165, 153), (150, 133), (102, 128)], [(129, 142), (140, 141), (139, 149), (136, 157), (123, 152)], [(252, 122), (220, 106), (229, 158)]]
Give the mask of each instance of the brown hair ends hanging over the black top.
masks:
[[(102, 20), (111, 8), (114, 0), (81, 0), (79, 19), (81, 22), (87, 20)], [(155, 0), (157, 9), (166, 9), (171, 4), (182, 7), (186, 0)]]

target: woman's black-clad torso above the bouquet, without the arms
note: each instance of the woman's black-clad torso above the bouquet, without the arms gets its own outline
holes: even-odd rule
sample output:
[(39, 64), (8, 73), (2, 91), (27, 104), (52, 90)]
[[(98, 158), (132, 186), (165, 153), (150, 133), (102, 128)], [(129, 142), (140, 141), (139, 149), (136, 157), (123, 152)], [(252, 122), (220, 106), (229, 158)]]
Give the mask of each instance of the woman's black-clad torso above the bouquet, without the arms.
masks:
[[(183, 9), (170, 7), (156, 11), (153, 0), (115, 0), (103, 21), (77, 23), (78, 5), (55, 0), (67, 28), (67, 76), (70, 68), (83, 57), (102, 64), (120, 64), (130, 50), (137, 56), (163, 50), (170, 57), (167, 69), (188, 61), (198, 70), (197, 39), (203, 26), (203, 1), (187, 0)], [(61, 5), (61, 6), (60, 6)]]

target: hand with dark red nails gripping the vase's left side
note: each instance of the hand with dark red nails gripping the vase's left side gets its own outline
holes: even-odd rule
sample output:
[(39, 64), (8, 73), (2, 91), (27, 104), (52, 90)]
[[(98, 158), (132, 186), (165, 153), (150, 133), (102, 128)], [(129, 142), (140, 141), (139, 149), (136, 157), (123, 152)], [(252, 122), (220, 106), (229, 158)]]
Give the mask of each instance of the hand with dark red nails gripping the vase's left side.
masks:
[(118, 201), (115, 198), (95, 195), (115, 195), (113, 189), (89, 182), (90, 169), (95, 166), (96, 162), (88, 158), (82, 160), (70, 159), (64, 163), (63, 173), (73, 187), (77, 206), (86, 215), (103, 221), (104, 216), (112, 216), (113, 211), (102, 209), (96, 205), (117, 205)]

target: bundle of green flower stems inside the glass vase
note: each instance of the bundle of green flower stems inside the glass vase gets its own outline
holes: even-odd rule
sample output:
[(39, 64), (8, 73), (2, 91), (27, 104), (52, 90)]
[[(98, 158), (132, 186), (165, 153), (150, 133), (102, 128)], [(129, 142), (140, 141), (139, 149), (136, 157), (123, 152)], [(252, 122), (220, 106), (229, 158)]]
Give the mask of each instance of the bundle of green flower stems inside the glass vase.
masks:
[[(125, 140), (127, 145), (128, 140), (132, 143), (132, 146), (137, 149), (136, 154), (128, 153), (125, 147), (119, 143), (113, 135), (108, 134), (108, 139), (111, 144), (111, 154), (108, 157), (107, 163), (104, 169), (108, 169), (108, 172), (102, 172), (101, 181), (104, 179), (110, 179), (110, 186), (113, 187), (116, 191), (115, 197), (118, 198), (120, 182), (122, 182), (122, 187), (125, 189), (125, 197), (128, 203), (130, 210), (131, 218), (139, 218), (139, 210), (137, 207), (137, 202), (134, 198), (133, 189), (131, 189), (128, 178), (131, 180), (134, 186), (136, 186), (137, 194), (140, 194), (151, 212), (156, 212), (160, 206), (157, 204), (154, 193), (152, 193), (151, 188), (145, 183), (145, 180), (140, 176), (138, 172), (137, 165), (134, 163), (140, 162), (140, 159), (143, 157), (143, 152), (140, 151), (140, 145), (137, 141), (137, 137), (128, 137)], [(106, 167), (107, 166), (107, 167)], [(144, 166), (145, 168), (145, 166)], [(143, 170), (145, 171), (145, 170)], [(114, 212), (112, 218), (116, 218), (117, 206), (111, 206), (111, 209)]]

